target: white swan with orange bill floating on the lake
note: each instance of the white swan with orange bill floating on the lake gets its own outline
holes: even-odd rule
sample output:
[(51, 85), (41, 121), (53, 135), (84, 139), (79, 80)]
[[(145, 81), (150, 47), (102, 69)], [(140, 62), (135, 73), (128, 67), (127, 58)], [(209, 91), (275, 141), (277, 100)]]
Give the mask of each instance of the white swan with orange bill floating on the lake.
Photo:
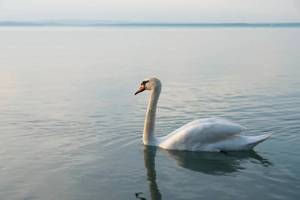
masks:
[(238, 135), (244, 126), (217, 118), (191, 121), (163, 137), (155, 137), (155, 113), (161, 83), (157, 78), (146, 78), (134, 93), (151, 90), (146, 112), (142, 141), (145, 145), (165, 149), (192, 151), (246, 150), (269, 138), (272, 133), (259, 136)]

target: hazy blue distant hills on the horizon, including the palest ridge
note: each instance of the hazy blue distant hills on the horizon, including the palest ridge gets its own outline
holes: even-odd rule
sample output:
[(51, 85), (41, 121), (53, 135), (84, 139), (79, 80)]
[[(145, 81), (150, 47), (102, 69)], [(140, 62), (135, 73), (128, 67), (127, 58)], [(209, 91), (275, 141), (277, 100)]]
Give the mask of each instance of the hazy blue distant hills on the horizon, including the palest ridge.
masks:
[(109, 20), (41, 20), (41, 21), (0, 21), (1, 26), (253, 26), (253, 27), (300, 27), (299, 23), (140, 23)]

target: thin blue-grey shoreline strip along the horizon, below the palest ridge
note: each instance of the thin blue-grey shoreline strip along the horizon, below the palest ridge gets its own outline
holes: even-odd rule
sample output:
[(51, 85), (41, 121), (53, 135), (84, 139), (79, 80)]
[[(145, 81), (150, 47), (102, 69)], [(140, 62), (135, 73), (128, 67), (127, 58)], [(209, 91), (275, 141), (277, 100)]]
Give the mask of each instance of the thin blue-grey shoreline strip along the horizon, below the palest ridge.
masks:
[(300, 27), (299, 23), (57, 23), (0, 21), (0, 26), (185, 26), (185, 27)]

